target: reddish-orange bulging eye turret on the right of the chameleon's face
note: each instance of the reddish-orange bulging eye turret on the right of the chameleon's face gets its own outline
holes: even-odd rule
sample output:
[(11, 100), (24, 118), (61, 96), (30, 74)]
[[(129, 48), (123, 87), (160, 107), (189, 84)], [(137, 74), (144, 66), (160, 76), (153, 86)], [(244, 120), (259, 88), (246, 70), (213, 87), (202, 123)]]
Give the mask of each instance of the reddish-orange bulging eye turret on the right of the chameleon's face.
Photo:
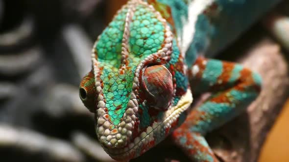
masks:
[(167, 110), (173, 97), (171, 73), (163, 65), (148, 66), (142, 78), (142, 89), (149, 106)]

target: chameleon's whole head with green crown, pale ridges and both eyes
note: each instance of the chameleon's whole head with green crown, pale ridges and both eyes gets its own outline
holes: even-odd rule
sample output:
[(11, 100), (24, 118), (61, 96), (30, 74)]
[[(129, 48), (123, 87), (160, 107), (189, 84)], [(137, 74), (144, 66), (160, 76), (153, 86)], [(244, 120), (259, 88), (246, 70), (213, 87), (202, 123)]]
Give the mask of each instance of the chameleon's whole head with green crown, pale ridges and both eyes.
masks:
[(79, 95), (96, 114), (96, 134), (116, 160), (161, 142), (192, 103), (186, 66), (169, 24), (146, 2), (123, 6), (98, 37)]

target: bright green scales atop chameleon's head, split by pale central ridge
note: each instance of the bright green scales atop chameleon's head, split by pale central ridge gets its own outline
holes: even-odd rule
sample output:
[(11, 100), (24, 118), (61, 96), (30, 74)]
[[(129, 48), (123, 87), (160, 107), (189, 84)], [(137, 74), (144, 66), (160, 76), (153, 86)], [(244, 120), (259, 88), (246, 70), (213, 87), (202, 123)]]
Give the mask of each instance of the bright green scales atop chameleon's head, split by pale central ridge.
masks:
[(134, 72), (137, 65), (148, 55), (157, 52), (164, 41), (162, 22), (143, 5), (136, 6), (130, 23), (128, 65), (123, 74), (121, 66), (121, 40), (124, 32), (127, 8), (123, 8), (109, 26), (103, 31), (96, 44), (100, 79), (103, 81), (102, 93), (106, 100), (109, 120), (117, 125), (125, 112), (132, 92)]

